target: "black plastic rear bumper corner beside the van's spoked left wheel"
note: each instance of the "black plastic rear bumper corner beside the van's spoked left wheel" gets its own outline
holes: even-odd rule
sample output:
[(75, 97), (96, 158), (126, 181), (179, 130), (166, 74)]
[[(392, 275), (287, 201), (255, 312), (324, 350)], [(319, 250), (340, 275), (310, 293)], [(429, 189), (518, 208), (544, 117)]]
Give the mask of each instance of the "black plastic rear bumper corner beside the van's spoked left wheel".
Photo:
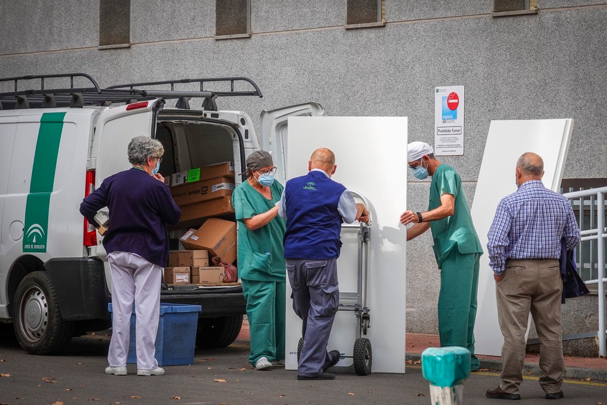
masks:
[(44, 264), (55, 286), (61, 316), (66, 321), (109, 319), (103, 262), (90, 257), (58, 257)]

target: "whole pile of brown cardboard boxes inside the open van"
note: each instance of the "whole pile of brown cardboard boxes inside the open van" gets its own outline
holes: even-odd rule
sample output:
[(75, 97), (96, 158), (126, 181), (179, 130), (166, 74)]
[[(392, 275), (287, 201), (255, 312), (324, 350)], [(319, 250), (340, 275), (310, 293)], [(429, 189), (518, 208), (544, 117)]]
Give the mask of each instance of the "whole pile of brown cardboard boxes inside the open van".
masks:
[(166, 183), (181, 209), (177, 228), (202, 225), (191, 228), (180, 238), (186, 250), (169, 252), (164, 281), (168, 284), (223, 282), (224, 268), (209, 267), (209, 263), (214, 256), (230, 264), (236, 260), (236, 222), (218, 218), (234, 218), (234, 164), (223, 162), (177, 172), (166, 177)]

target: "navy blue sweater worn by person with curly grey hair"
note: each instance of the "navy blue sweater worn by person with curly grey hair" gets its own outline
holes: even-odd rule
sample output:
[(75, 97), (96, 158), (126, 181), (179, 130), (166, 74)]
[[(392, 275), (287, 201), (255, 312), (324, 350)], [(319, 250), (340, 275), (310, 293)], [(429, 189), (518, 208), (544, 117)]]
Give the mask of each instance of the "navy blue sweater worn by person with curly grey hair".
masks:
[(110, 223), (103, 238), (107, 253), (135, 253), (160, 267), (169, 258), (166, 224), (175, 225), (181, 210), (169, 188), (140, 169), (110, 175), (80, 204), (80, 213), (95, 226), (95, 214), (107, 205)]

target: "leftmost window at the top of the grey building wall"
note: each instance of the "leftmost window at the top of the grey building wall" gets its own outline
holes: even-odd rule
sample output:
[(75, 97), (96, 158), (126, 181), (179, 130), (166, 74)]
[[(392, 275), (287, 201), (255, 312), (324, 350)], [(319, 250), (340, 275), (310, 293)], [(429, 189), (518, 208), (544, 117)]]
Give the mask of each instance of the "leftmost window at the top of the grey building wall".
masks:
[(131, 45), (131, 0), (99, 0), (99, 47)]

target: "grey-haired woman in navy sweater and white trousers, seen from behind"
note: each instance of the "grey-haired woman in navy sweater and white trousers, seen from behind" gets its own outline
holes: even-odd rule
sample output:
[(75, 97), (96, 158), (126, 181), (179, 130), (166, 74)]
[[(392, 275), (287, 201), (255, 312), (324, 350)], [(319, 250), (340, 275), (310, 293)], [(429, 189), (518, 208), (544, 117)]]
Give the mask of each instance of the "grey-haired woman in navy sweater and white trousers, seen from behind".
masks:
[(164, 148), (160, 141), (135, 137), (127, 155), (133, 167), (110, 175), (80, 205), (93, 226), (95, 214), (109, 209), (110, 224), (103, 239), (112, 273), (114, 317), (106, 374), (126, 375), (131, 312), (137, 316), (137, 375), (162, 375), (155, 359), (160, 318), (162, 270), (169, 256), (166, 224), (175, 225), (181, 211), (158, 173)]

